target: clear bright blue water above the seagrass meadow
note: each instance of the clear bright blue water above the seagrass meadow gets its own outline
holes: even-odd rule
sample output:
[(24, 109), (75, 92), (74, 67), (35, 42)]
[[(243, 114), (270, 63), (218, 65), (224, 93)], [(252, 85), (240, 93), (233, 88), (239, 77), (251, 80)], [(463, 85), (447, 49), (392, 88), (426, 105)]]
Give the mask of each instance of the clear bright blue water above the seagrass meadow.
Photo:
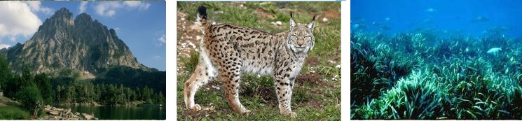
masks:
[(477, 37), (500, 31), (522, 37), (520, 0), (352, 0), (350, 4), (352, 31), (396, 34), (433, 29)]

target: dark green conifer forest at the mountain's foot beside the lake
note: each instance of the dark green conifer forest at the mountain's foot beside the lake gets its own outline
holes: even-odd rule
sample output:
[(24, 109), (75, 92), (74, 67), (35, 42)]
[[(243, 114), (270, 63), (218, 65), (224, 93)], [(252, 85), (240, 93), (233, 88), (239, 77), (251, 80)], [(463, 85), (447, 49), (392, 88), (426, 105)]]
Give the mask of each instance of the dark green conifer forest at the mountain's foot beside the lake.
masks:
[[(0, 55), (0, 92), (4, 92), (4, 97), (20, 102), (28, 111), (45, 105), (165, 105), (165, 71), (131, 70), (114, 67), (107, 69), (104, 77), (95, 80), (34, 74), (27, 67), (17, 75), (10, 69), (6, 58)], [(158, 83), (155, 85), (154, 81)]]

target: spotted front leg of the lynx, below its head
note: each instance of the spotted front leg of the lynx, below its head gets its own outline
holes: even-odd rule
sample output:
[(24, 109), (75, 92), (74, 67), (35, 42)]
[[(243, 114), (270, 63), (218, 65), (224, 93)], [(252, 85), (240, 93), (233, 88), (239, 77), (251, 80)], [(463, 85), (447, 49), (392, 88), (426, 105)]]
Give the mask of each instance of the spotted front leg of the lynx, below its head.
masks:
[(291, 94), (294, 87), (294, 79), (287, 78), (276, 78), (275, 79), (275, 92), (277, 94), (277, 100), (279, 101), (279, 111), (281, 115), (289, 115), (296, 117), (295, 112), (291, 112)]

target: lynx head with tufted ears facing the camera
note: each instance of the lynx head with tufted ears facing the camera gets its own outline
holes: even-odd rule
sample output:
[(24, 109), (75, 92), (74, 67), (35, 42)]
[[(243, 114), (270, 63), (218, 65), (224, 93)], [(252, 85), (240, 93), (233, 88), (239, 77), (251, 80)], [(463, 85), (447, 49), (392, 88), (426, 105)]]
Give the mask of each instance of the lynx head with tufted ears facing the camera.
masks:
[(315, 44), (315, 16), (309, 24), (296, 23), (290, 13), (290, 31), (287, 35), (287, 48), (296, 53), (307, 53)]

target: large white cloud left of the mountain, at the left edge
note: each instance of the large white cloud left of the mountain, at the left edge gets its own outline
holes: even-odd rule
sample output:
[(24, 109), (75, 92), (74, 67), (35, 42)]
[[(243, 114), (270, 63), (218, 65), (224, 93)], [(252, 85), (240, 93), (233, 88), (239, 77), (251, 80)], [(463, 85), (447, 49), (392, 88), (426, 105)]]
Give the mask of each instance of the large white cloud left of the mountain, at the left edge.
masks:
[(15, 41), (15, 36), (32, 36), (42, 24), (36, 12), (46, 11), (48, 8), (41, 6), (40, 1), (1, 1), (0, 38)]

